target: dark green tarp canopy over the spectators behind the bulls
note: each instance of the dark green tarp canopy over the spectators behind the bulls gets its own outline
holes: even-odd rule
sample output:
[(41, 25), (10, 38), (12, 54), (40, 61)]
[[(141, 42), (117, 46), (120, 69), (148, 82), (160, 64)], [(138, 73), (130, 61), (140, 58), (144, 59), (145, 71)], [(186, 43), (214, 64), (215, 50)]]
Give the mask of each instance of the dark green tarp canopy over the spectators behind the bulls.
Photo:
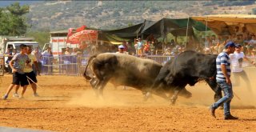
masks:
[[(187, 22), (188, 34), (189, 36), (194, 35), (194, 29), (202, 31), (209, 30), (202, 22), (195, 22), (192, 19), (171, 19), (162, 18), (157, 22), (144, 20), (144, 22), (139, 23), (135, 26), (130, 26), (118, 30), (101, 30), (99, 34), (99, 39), (106, 40), (108, 38), (121, 38), (121, 39), (134, 39), (137, 36), (144, 36), (146, 38), (149, 34), (154, 34), (154, 36), (165, 36), (167, 33), (171, 33), (174, 36), (186, 36)], [(121, 40), (122, 41), (122, 40)]]

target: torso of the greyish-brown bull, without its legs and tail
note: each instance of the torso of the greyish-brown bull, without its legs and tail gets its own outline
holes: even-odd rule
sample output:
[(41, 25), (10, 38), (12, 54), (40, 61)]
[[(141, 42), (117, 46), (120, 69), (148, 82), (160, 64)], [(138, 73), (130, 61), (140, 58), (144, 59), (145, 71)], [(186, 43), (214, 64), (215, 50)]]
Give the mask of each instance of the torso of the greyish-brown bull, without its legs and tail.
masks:
[(142, 87), (152, 85), (162, 65), (150, 59), (127, 54), (105, 53), (98, 54), (93, 67), (98, 70), (95, 74), (104, 73), (120, 85)]

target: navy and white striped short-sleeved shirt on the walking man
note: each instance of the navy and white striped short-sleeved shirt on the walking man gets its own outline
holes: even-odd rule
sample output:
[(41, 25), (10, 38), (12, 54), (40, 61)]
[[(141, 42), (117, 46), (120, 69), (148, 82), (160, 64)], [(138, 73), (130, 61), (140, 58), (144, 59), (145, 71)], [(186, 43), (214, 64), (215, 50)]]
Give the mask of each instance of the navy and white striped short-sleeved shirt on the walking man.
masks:
[(217, 75), (216, 80), (218, 81), (226, 81), (226, 78), (224, 74), (222, 73), (221, 65), (226, 65), (226, 71), (227, 75), (230, 77), (230, 57), (226, 52), (222, 52), (218, 54), (218, 57), (216, 58), (216, 68), (217, 68)]

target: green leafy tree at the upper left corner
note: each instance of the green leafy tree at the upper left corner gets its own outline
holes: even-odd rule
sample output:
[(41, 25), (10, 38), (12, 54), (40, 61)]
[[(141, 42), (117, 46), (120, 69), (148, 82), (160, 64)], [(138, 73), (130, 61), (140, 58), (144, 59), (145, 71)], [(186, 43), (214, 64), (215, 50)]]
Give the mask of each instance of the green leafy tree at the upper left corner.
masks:
[(29, 12), (29, 6), (20, 6), (15, 2), (0, 11), (0, 34), (16, 36), (26, 33), (24, 14)]

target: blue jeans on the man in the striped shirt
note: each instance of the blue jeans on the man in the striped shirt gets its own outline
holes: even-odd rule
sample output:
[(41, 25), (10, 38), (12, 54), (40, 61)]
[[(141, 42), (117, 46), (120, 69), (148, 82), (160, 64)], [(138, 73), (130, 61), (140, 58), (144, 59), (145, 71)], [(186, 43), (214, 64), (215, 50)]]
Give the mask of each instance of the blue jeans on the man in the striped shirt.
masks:
[(230, 102), (231, 99), (233, 98), (233, 90), (232, 90), (232, 84), (229, 85), (226, 83), (226, 81), (224, 82), (218, 82), (218, 85), (222, 88), (223, 92), (224, 92), (224, 96), (219, 99), (217, 102), (215, 102), (212, 107), (214, 109), (217, 109), (218, 106), (221, 106), (222, 104), (224, 105), (224, 115), (229, 115), (230, 114)]

